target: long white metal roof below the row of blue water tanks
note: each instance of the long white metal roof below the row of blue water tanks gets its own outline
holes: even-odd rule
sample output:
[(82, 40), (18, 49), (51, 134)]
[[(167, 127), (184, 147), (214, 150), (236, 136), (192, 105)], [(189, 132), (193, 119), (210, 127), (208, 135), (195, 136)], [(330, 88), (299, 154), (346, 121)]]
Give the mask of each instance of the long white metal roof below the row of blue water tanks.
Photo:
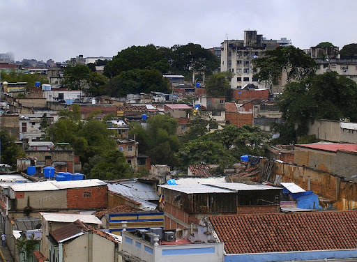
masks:
[(63, 190), (67, 188), (77, 188), (77, 187), (96, 187), (98, 185), (107, 185), (99, 179), (86, 179), (86, 180), (71, 180), (71, 181), (42, 181), (35, 183), (16, 183), (11, 185), (10, 188), (13, 191), (52, 191), (52, 190)]

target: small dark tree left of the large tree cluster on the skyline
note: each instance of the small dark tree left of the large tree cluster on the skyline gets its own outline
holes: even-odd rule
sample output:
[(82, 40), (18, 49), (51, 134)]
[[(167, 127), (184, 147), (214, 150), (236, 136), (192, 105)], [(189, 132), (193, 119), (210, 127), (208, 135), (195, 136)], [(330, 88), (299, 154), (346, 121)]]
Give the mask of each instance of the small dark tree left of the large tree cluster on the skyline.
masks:
[(63, 84), (70, 89), (82, 90), (87, 84), (91, 69), (88, 66), (79, 64), (76, 66), (66, 66), (63, 70)]

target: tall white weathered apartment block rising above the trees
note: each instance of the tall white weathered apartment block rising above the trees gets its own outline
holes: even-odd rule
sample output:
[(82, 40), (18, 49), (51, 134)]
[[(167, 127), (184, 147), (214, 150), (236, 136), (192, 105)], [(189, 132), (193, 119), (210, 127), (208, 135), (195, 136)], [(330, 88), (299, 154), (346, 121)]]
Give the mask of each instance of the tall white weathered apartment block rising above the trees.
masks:
[(220, 70), (235, 73), (231, 79), (231, 88), (240, 89), (246, 84), (255, 84), (259, 88), (267, 87), (253, 78), (256, 72), (252, 66), (252, 59), (278, 46), (277, 40), (266, 40), (263, 35), (258, 35), (257, 31), (244, 31), (244, 40), (223, 41)]

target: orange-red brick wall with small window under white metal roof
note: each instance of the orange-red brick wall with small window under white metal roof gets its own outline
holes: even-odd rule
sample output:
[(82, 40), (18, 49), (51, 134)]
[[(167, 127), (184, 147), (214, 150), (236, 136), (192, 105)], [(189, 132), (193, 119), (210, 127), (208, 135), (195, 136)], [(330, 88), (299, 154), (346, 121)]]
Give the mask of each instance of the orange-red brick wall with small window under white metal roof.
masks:
[(67, 208), (107, 208), (108, 187), (73, 188), (67, 190)]

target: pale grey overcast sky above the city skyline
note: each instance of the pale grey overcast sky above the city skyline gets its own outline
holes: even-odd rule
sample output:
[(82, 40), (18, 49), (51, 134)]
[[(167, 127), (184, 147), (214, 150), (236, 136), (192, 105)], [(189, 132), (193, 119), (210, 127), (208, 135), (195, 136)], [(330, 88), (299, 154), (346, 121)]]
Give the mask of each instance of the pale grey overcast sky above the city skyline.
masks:
[(0, 0), (0, 53), (15, 60), (114, 56), (132, 45), (219, 47), (244, 30), (291, 39), (357, 43), (356, 0)]

